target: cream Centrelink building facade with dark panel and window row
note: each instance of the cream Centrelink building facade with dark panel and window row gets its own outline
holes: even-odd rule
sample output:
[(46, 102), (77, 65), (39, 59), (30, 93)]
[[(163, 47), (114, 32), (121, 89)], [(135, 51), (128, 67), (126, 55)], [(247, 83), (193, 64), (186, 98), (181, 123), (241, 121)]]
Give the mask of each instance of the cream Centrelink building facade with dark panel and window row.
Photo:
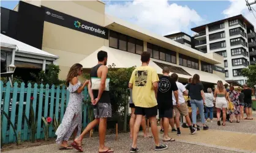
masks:
[[(20, 1), (14, 10), (26, 16), (18, 18), (21, 23), (17, 23), (17, 35), (13, 37), (57, 55), (60, 79), (66, 79), (74, 63), (81, 63), (85, 70), (96, 65), (97, 52), (103, 50), (108, 52), (108, 64), (115, 63), (115, 68), (140, 66), (141, 52), (148, 51), (151, 52), (149, 65), (159, 74), (168, 66), (184, 84), (194, 74), (200, 75), (206, 87), (213, 87), (217, 80), (225, 82), (224, 59), (219, 54), (204, 54), (107, 15), (104, 2)], [(20, 30), (24, 21), (36, 23), (26, 35)], [(5, 34), (9, 35), (10, 31), (7, 29)]]

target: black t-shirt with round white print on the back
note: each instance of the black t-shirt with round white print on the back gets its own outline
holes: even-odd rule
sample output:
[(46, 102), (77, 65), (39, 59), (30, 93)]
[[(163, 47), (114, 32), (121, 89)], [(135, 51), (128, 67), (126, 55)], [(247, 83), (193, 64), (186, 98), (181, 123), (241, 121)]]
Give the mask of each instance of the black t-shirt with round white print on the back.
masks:
[(157, 89), (157, 104), (159, 109), (170, 109), (173, 107), (172, 92), (176, 90), (178, 90), (178, 87), (171, 77), (159, 77)]

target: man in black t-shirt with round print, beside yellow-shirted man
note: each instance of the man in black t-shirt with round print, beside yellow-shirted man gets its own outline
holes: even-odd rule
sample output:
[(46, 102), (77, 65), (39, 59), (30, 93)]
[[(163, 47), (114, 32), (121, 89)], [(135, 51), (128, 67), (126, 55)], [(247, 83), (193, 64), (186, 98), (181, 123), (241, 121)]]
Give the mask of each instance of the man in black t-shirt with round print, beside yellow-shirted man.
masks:
[[(159, 118), (164, 120), (164, 140), (163, 141), (175, 141), (168, 135), (169, 121), (173, 118), (173, 100), (172, 91), (175, 95), (176, 102), (178, 99), (178, 87), (176, 82), (169, 77), (170, 69), (168, 67), (163, 68), (163, 76), (159, 78), (157, 89), (157, 104), (159, 109)], [(179, 106), (179, 103), (177, 103)]]

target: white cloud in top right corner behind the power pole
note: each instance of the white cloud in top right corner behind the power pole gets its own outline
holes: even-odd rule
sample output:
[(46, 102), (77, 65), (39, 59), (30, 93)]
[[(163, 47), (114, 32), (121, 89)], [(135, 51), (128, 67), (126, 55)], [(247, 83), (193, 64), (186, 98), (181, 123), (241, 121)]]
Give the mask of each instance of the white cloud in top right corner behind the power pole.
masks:
[[(254, 2), (254, 0), (249, 0), (249, 2)], [(256, 10), (256, 4), (250, 5), (253, 9)], [(256, 16), (256, 11), (253, 10), (254, 15)], [(222, 13), (225, 15), (225, 18), (242, 14), (250, 23), (256, 26), (256, 18), (254, 17), (253, 13), (249, 12), (248, 7), (246, 5), (246, 1), (230, 1), (230, 6), (225, 9)]]

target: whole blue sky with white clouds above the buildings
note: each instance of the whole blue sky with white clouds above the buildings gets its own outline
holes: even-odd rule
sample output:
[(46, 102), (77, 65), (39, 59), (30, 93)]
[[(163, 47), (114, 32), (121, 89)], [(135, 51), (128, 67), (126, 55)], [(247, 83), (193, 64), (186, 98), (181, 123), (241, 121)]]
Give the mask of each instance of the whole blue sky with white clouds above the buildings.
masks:
[[(254, 0), (249, 0), (252, 2)], [(185, 32), (194, 35), (192, 27), (201, 26), (230, 16), (243, 14), (256, 27), (256, 4), (249, 12), (246, 1), (167, 1), (134, 0), (104, 1), (105, 12), (137, 24), (159, 35)], [(1, 1), (1, 7), (13, 9), (18, 1)]]

